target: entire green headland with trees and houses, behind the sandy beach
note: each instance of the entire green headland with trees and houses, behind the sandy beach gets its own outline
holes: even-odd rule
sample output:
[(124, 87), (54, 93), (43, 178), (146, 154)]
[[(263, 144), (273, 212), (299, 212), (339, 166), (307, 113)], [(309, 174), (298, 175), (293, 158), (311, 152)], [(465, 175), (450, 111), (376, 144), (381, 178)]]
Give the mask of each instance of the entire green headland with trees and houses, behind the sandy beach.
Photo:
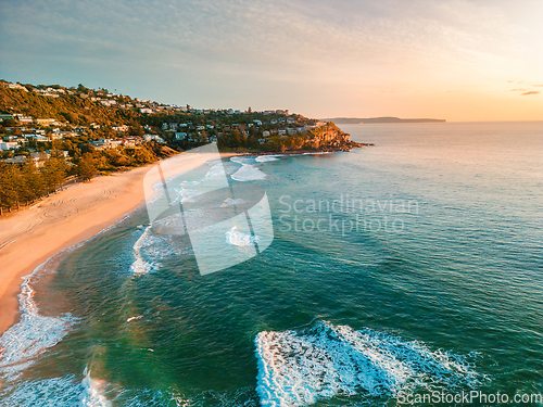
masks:
[(0, 213), (66, 181), (153, 163), (216, 142), (240, 153), (348, 151), (333, 123), (290, 114), (168, 105), (83, 85), (0, 80)]

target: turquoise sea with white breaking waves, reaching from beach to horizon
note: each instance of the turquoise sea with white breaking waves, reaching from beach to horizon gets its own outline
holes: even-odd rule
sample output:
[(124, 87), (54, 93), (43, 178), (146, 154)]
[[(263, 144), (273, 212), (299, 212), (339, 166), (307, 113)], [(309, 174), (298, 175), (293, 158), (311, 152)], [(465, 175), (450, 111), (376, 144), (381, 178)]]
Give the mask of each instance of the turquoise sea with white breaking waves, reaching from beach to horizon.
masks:
[[(543, 393), (543, 123), (342, 129), (376, 147), (225, 160), (269, 201), (274, 242), (247, 262), (201, 276), (141, 209), (37, 270), (0, 340), (0, 405)], [(171, 183), (189, 202), (216, 165)]]

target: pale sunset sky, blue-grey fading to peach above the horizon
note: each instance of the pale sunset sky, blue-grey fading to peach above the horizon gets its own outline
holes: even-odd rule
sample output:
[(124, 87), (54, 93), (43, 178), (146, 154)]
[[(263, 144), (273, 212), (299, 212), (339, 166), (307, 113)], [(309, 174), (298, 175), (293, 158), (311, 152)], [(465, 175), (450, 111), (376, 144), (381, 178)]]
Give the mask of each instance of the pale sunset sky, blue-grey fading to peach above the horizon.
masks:
[(311, 117), (543, 119), (540, 0), (0, 2), (0, 78)]

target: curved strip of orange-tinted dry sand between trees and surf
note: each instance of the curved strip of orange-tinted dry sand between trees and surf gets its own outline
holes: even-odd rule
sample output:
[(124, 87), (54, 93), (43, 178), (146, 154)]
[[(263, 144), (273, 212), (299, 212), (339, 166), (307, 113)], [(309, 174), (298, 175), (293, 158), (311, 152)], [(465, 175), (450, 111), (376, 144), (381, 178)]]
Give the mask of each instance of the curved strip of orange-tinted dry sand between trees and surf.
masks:
[[(161, 162), (162, 176), (167, 178), (193, 169), (216, 157), (212, 153), (176, 155)], [(146, 198), (143, 178), (155, 166), (76, 183), (28, 209), (0, 218), (0, 334), (18, 319), (22, 278), (56, 253), (96, 236), (141, 205)]]

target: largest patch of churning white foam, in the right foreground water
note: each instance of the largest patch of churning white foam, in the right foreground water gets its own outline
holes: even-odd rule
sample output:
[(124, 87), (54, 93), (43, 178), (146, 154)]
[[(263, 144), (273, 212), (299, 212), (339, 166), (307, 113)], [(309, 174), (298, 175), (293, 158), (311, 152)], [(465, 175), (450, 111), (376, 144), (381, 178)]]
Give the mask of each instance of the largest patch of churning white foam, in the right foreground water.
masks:
[(465, 357), (327, 322), (304, 332), (260, 332), (255, 344), (262, 406), (307, 406), (338, 394), (394, 397), (421, 387), (472, 387), (482, 378)]

